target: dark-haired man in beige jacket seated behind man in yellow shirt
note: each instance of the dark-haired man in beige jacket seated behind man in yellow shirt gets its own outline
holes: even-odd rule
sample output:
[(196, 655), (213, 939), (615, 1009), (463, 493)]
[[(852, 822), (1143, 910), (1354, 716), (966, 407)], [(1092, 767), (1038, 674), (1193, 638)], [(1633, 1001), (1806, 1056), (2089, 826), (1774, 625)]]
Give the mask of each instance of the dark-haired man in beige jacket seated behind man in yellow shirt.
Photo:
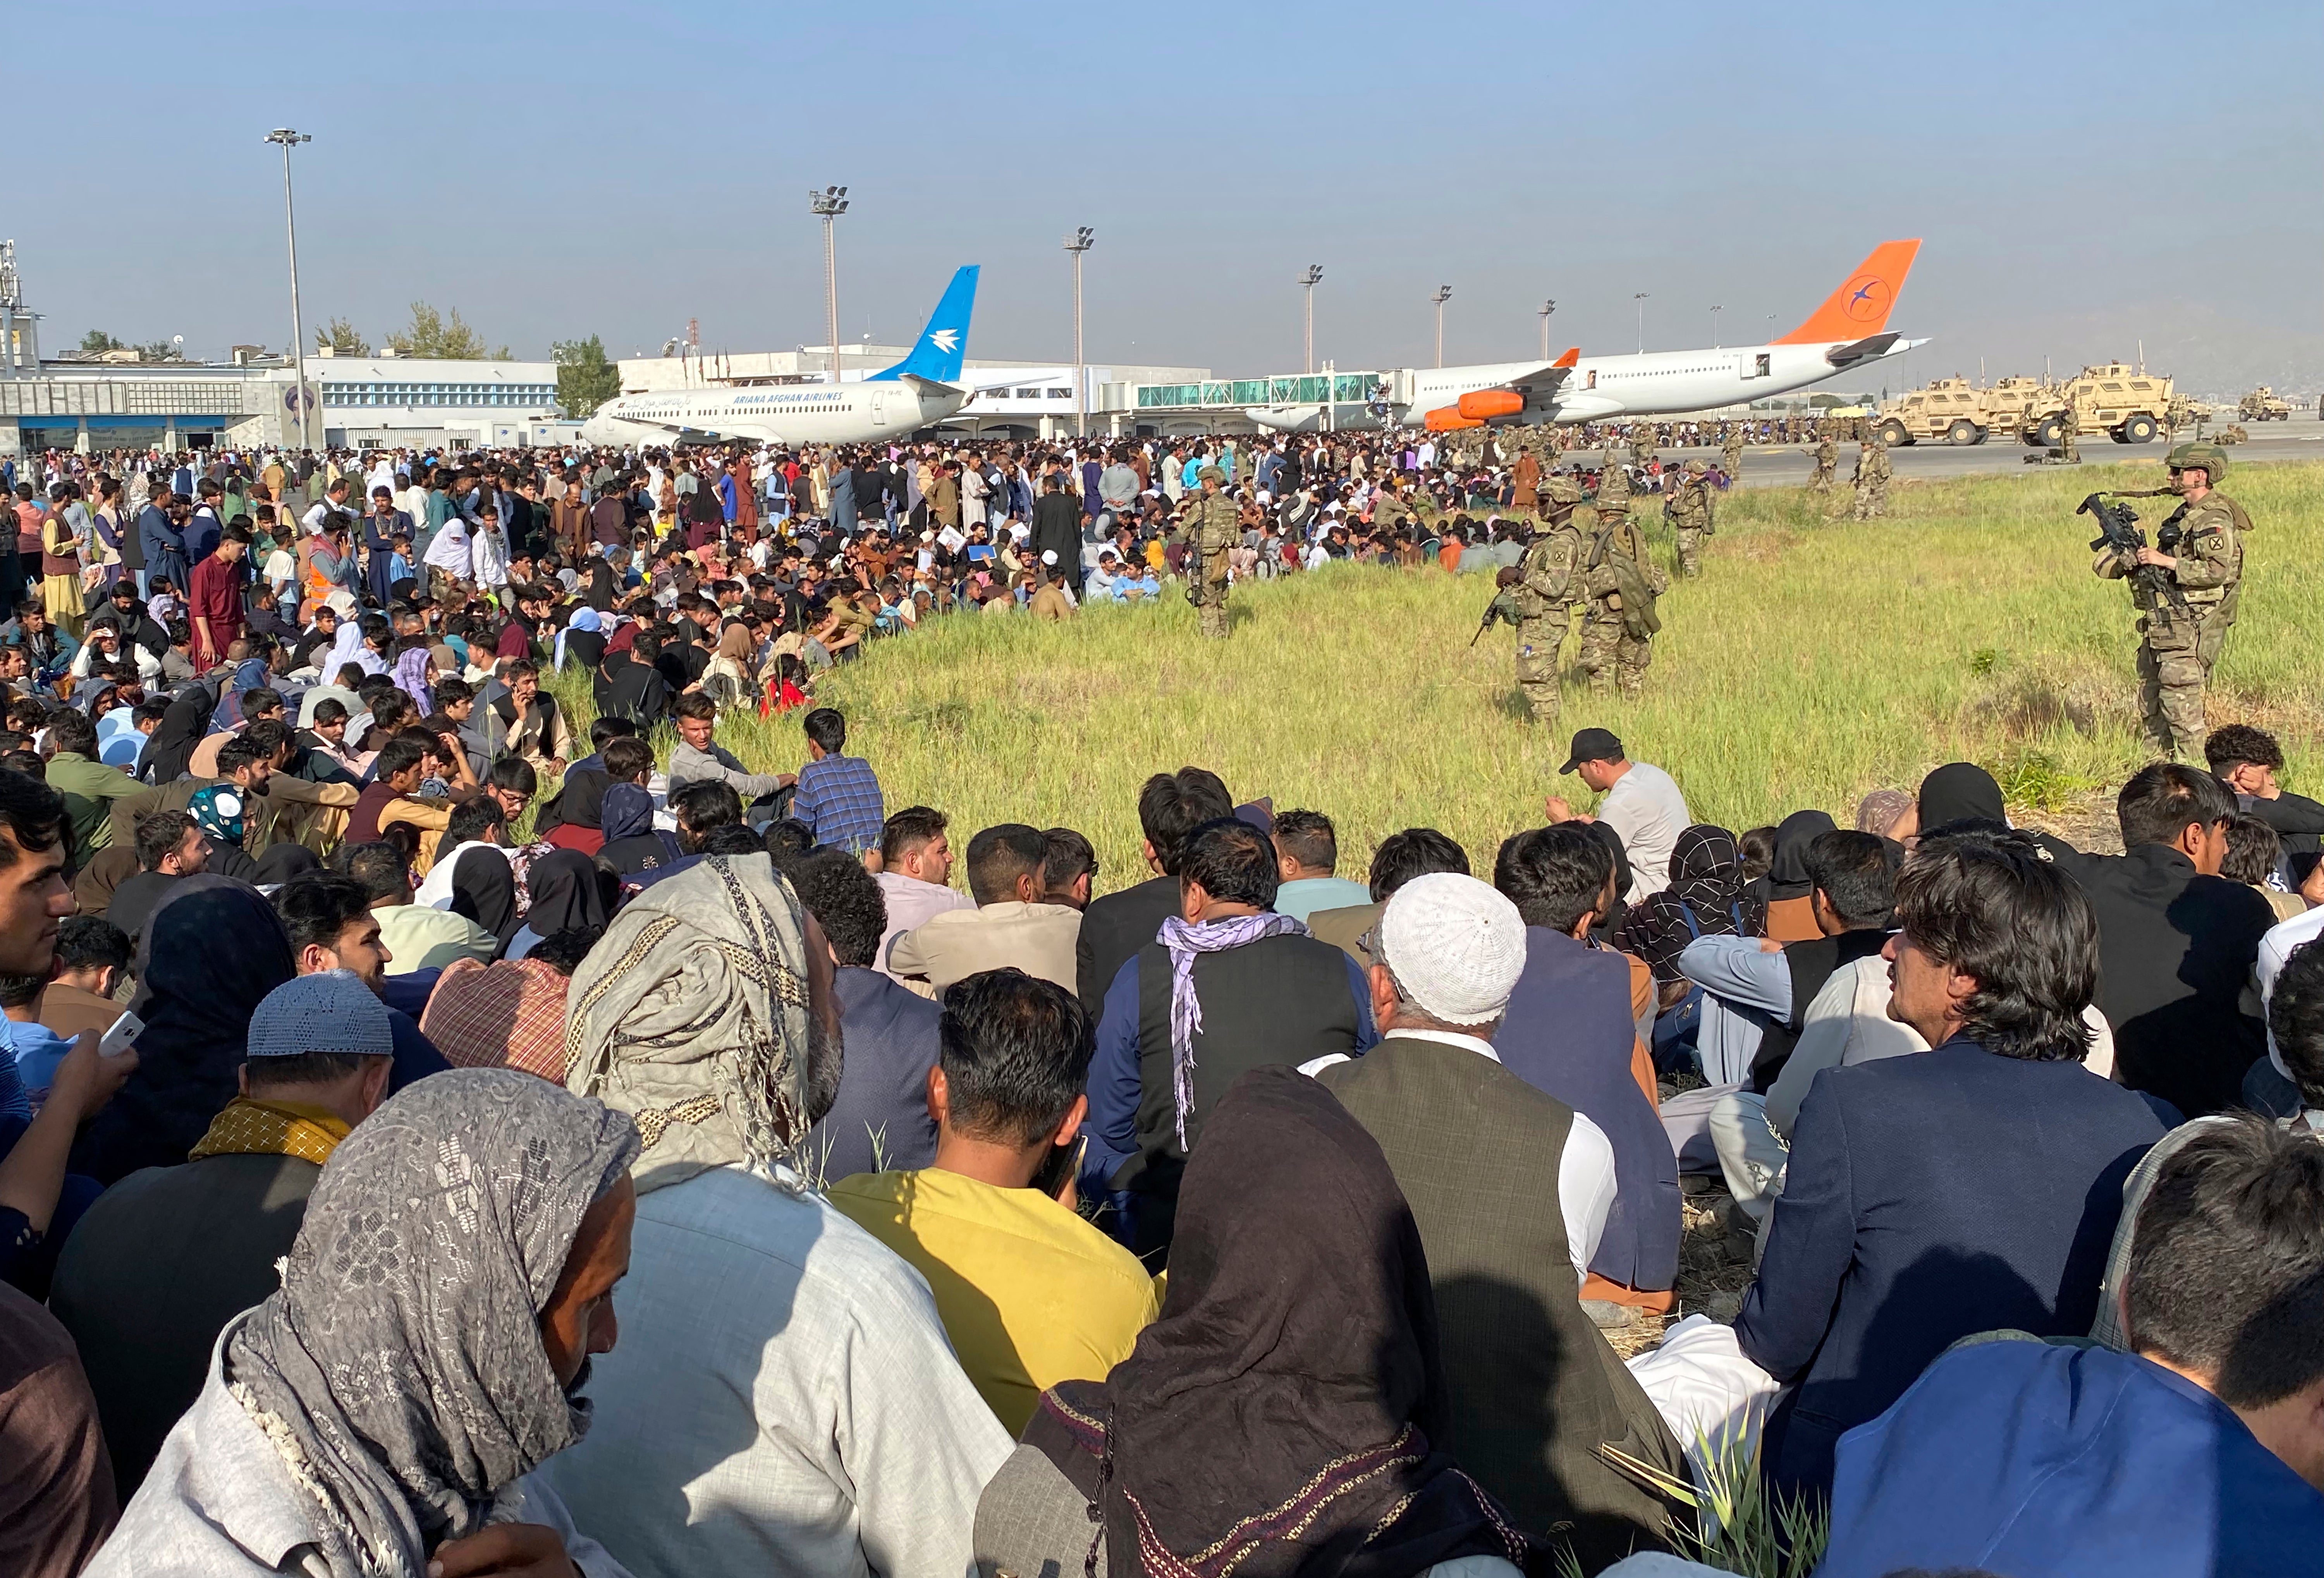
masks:
[(953, 981), (985, 969), (1074, 985), (1074, 944), (1081, 911), (1048, 904), (1041, 876), (1048, 837), (1039, 827), (1002, 823), (969, 839), (969, 892), (976, 909), (948, 909), (904, 932), (888, 948), (888, 974), (913, 990), (941, 997)]

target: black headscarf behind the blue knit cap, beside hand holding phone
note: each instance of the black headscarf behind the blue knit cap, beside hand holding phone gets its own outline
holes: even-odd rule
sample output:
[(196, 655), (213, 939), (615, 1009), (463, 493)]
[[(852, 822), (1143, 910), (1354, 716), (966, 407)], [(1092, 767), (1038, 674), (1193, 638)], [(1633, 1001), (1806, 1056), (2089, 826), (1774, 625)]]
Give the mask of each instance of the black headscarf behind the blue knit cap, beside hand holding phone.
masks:
[(295, 974), (290, 937), (256, 888), (179, 878), (137, 941), (137, 1071), (81, 1134), (72, 1171), (112, 1185), (184, 1162), (235, 1099), (251, 1016)]

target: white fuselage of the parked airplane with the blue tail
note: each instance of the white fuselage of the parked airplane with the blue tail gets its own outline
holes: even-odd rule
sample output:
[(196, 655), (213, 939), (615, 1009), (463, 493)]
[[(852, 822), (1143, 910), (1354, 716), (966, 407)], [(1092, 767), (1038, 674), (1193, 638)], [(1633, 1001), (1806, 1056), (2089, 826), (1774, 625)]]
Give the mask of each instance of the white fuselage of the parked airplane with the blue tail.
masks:
[(581, 423), (581, 442), (869, 444), (939, 423), (967, 400), (964, 388), (939, 393), (909, 379), (679, 388), (604, 402)]

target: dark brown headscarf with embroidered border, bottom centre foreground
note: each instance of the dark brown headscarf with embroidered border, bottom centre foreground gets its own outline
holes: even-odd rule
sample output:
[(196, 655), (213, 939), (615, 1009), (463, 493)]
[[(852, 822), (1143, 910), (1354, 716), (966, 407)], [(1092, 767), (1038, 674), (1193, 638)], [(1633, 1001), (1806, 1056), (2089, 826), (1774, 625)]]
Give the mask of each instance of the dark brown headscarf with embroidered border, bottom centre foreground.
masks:
[[(1450, 1434), (1420, 1229), (1378, 1141), (1287, 1067), (1239, 1078), (1178, 1192), (1162, 1318), (1025, 1427), (1113, 1578), (1406, 1578), (1525, 1538)], [(1097, 1529), (1090, 1532), (1092, 1541)]]

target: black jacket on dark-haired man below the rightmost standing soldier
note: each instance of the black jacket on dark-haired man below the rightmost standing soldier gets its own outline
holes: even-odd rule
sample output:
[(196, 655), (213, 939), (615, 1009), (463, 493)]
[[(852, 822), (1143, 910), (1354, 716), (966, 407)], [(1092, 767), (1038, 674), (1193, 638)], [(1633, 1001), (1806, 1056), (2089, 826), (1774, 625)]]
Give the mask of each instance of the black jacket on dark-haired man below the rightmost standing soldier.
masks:
[[(2040, 837), (2040, 834), (2038, 834)], [(2040, 837), (2099, 911), (2099, 1011), (2115, 1030), (2115, 1078), (2187, 1118), (2233, 1106), (2266, 1050), (2257, 999), (2245, 1004), (2268, 902), (2201, 876), (2168, 844), (2085, 855)]]

